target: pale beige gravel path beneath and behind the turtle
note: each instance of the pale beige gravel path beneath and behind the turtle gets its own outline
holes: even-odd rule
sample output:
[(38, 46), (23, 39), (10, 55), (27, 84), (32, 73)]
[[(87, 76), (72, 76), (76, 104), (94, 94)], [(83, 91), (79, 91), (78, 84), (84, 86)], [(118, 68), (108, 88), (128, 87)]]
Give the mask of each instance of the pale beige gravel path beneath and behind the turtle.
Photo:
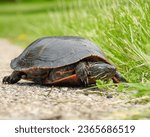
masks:
[[(23, 49), (0, 40), (0, 81)], [(99, 89), (40, 86), (21, 80), (0, 82), (0, 119), (130, 119), (150, 109), (130, 94)], [(145, 118), (143, 118), (145, 119)]]

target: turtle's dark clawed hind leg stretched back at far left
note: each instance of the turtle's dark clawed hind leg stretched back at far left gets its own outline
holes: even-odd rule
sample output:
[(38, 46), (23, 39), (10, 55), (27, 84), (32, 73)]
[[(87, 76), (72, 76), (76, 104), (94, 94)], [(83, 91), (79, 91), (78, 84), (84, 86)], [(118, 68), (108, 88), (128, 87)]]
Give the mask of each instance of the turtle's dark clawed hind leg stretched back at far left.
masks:
[(3, 84), (14, 84), (14, 83), (17, 83), (22, 78), (22, 76), (24, 76), (24, 75), (25, 74), (23, 74), (22, 72), (13, 71), (10, 76), (5, 76), (3, 78), (2, 83)]

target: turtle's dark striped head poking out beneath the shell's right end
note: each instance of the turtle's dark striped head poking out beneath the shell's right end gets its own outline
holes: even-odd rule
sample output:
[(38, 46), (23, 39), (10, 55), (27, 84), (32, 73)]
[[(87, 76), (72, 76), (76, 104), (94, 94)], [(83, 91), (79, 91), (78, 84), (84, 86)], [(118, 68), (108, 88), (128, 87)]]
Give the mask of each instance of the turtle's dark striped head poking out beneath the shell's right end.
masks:
[(116, 74), (116, 68), (104, 62), (93, 62), (89, 67), (89, 75), (91, 79), (108, 80)]

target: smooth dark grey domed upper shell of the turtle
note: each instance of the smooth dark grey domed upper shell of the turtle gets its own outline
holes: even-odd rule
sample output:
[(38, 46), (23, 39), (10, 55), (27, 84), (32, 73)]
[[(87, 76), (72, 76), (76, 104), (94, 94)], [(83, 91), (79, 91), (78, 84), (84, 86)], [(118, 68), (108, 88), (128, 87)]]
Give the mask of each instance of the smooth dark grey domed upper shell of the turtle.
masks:
[(14, 70), (58, 68), (81, 60), (109, 63), (93, 42), (76, 36), (43, 37), (31, 43), (11, 61)]

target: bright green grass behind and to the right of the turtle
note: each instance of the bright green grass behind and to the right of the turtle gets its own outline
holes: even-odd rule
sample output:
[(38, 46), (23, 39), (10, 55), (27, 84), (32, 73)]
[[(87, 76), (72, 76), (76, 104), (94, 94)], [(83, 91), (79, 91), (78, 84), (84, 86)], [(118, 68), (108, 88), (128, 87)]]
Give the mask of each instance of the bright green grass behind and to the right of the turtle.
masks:
[[(0, 37), (23, 47), (52, 35), (92, 40), (130, 82), (127, 90), (150, 95), (150, 0), (1, 4), (0, 14)], [(101, 82), (97, 85), (101, 87)]]

